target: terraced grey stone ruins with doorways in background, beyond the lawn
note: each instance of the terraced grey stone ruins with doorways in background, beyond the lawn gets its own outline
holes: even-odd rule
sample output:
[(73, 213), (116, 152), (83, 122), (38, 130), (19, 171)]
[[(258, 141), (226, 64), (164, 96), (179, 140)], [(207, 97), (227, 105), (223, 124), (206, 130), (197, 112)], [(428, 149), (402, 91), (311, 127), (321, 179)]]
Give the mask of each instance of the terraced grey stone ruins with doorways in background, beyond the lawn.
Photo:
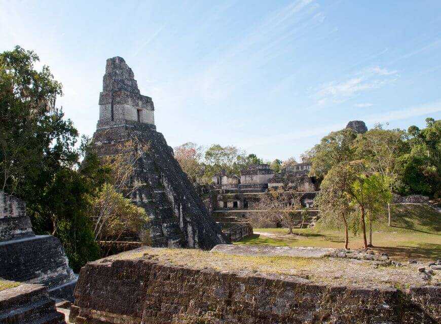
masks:
[[(225, 171), (213, 177), (214, 190), (212, 191), (213, 217), (222, 228), (229, 232), (239, 224), (249, 222), (253, 227), (278, 227), (276, 218), (264, 219), (250, 217), (262, 211), (253, 209), (253, 205), (268, 191), (288, 190), (300, 193), (300, 203), (307, 209), (308, 218), (303, 221), (299, 214), (298, 226), (312, 226), (317, 220), (318, 211), (314, 209), (313, 200), (318, 192), (319, 184), (315, 177), (309, 177), (311, 165), (300, 163), (275, 173), (267, 164), (250, 165), (241, 171), (240, 177), (229, 176)], [(256, 219), (259, 219), (256, 221)], [(242, 232), (252, 234), (252, 231)], [(241, 239), (240, 235), (233, 235)]]

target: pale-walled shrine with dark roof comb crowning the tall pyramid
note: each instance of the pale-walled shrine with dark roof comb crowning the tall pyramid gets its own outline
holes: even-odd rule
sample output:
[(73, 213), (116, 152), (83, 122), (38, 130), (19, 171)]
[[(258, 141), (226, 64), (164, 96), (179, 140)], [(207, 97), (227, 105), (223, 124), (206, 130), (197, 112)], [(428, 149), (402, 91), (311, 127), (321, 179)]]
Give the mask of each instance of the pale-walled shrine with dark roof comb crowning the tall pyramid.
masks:
[(133, 71), (122, 57), (106, 61), (99, 105), (98, 128), (108, 127), (109, 121), (155, 125), (152, 98), (140, 94)]

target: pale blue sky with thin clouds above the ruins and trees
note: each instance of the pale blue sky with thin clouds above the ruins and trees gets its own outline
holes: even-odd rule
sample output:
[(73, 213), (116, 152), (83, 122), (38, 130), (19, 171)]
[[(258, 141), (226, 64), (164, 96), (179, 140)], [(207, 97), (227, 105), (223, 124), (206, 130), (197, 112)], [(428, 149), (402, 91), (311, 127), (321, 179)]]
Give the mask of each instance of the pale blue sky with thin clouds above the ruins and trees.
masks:
[(40, 55), (82, 134), (122, 56), (169, 145), (298, 157), (349, 120), (441, 118), (440, 1), (0, 0), (0, 51)]

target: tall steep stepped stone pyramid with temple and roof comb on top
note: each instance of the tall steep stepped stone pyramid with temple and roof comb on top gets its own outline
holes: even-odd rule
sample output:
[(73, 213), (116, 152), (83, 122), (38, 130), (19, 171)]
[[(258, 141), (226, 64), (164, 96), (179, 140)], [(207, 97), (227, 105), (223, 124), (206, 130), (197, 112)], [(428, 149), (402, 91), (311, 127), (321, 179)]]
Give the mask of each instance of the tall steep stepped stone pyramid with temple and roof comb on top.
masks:
[(140, 94), (124, 59), (107, 59), (93, 135), (95, 151), (99, 156), (118, 154), (121, 144), (130, 140), (147, 147), (132, 176), (132, 183), (141, 185), (130, 198), (150, 217), (152, 246), (211, 249), (228, 243), (181, 170), (173, 149), (156, 131), (154, 110), (152, 98)]

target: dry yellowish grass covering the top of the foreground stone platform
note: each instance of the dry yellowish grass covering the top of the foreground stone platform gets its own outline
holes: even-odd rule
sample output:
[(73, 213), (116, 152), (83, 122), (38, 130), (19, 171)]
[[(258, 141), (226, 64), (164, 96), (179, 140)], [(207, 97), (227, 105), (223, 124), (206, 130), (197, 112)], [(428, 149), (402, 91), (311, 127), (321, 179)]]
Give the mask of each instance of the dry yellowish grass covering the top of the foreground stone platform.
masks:
[[(429, 282), (418, 272), (421, 264), (380, 266), (374, 268), (370, 261), (340, 258), (262, 257), (235, 256), (196, 249), (167, 249), (144, 247), (106, 258), (146, 259), (161, 264), (193, 269), (213, 269), (219, 272), (236, 272), (240, 275), (263, 274), (280, 278), (301, 277), (317, 284), (352, 287), (409, 287), (436, 284), (441, 276), (435, 274)], [(102, 262), (102, 261), (101, 261)]]

